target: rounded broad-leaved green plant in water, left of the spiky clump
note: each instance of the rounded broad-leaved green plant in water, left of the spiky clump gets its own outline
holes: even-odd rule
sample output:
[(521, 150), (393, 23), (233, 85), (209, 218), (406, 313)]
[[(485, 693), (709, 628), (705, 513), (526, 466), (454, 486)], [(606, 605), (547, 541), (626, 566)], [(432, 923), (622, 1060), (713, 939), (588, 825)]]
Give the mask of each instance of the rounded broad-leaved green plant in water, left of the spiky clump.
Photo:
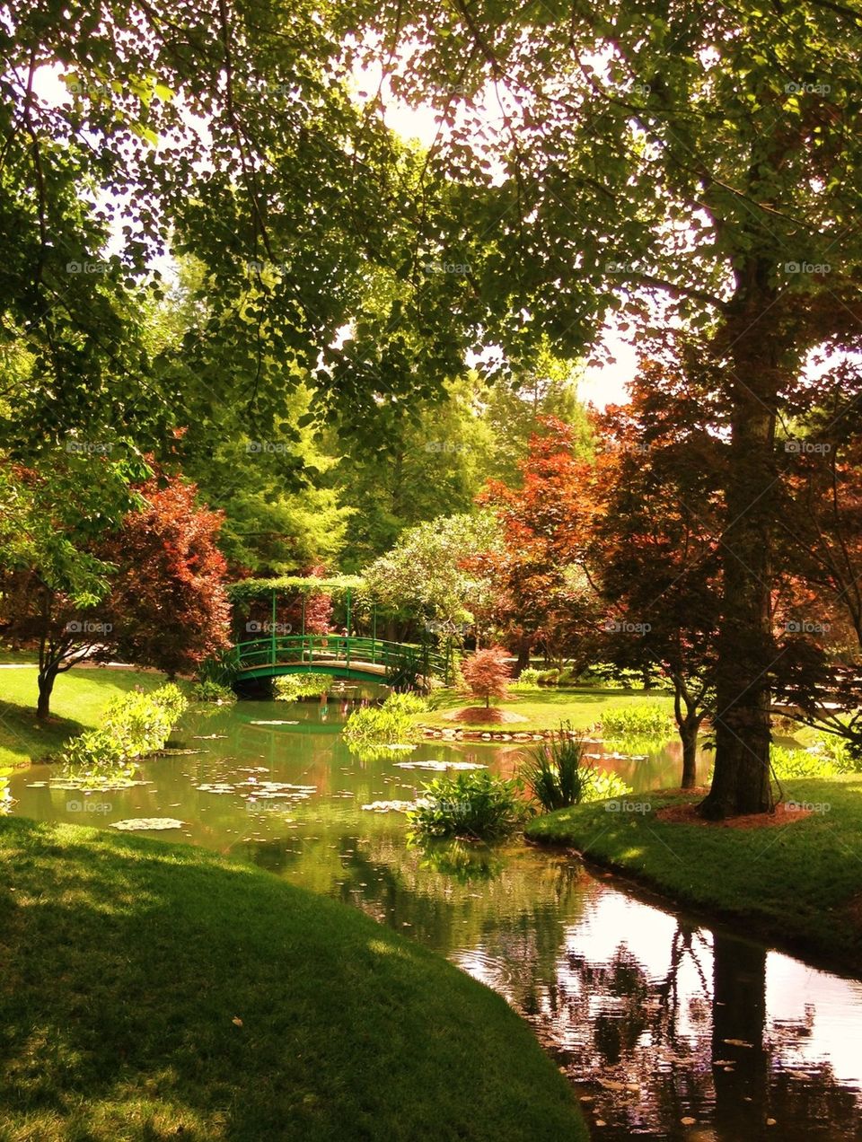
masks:
[(529, 815), (519, 793), (519, 781), (484, 770), (436, 778), (422, 787), (408, 822), (414, 833), (429, 837), (505, 837)]

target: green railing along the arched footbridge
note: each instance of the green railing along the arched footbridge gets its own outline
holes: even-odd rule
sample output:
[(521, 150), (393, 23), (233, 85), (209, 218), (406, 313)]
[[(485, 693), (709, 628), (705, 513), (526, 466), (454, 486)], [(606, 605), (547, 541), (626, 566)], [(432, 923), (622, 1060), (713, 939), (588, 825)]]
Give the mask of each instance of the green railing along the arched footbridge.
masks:
[(448, 677), (445, 656), (416, 643), (389, 642), (355, 635), (277, 635), (236, 644), (240, 673), (277, 666), (339, 666), (361, 669), (380, 666), (385, 676), (404, 671)]

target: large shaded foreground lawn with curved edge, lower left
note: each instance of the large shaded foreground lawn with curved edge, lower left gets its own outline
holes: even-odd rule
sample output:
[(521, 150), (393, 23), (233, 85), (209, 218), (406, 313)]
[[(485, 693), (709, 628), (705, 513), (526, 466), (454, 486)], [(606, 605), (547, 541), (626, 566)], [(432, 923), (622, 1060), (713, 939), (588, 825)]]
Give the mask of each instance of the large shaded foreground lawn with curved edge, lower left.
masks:
[(0, 821), (0, 1137), (586, 1140), (505, 1000), (191, 845)]

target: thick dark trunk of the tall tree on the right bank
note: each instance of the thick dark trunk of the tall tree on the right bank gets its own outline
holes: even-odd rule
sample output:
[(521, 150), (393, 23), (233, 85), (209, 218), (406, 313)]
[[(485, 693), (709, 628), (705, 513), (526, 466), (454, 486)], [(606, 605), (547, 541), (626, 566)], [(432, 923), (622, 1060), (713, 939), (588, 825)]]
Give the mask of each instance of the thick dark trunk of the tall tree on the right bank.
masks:
[[(768, 305), (743, 305), (728, 322), (728, 395), (734, 412), (726, 467), (727, 525), (723, 619), (716, 685), (716, 764), (701, 805), (716, 820), (772, 807), (770, 686), (775, 660), (771, 622), (772, 521), (775, 484), (775, 392)], [(758, 317), (764, 317), (763, 322)]]

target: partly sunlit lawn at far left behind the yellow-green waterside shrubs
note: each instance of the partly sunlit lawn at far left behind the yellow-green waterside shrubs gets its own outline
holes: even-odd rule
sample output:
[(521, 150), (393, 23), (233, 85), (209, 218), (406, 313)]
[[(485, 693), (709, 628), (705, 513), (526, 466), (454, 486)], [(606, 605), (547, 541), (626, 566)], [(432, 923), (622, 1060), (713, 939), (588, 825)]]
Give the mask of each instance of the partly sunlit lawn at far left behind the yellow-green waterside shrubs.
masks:
[[(13, 656), (7, 654), (7, 660)], [(118, 670), (113, 667), (73, 667), (61, 674), (51, 695), (53, 718), (37, 721), (37, 671), (32, 666), (0, 668), (0, 769), (26, 765), (57, 753), (66, 738), (98, 725), (99, 716), (115, 695), (134, 690), (154, 690), (162, 674)]]

